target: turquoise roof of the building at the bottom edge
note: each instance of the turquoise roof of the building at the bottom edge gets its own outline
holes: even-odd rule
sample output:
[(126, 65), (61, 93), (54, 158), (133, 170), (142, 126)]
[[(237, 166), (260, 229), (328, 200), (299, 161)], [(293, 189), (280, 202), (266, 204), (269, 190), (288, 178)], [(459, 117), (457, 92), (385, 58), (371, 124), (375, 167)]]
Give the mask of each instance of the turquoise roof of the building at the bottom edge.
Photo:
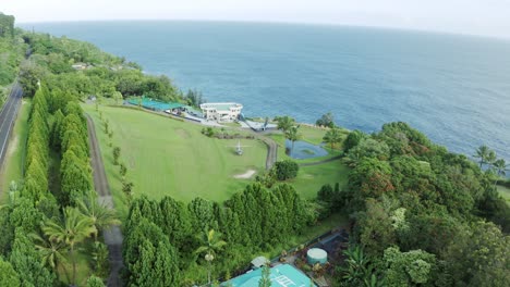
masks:
[[(303, 272), (289, 264), (282, 264), (271, 267), (270, 271), (271, 273), (269, 277), (271, 279), (271, 286), (274, 287), (317, 286), (313, 284), (312, 279), (308, 278), (308, 276), (306, 276)], [(260, 280), (262, 272), (262, 269), (251, 271), (246, 274), (222, 283), (221, 286), (227, 286), (228, 284), (231, 284), (232, 287), (258, 287), (258, 282)]]

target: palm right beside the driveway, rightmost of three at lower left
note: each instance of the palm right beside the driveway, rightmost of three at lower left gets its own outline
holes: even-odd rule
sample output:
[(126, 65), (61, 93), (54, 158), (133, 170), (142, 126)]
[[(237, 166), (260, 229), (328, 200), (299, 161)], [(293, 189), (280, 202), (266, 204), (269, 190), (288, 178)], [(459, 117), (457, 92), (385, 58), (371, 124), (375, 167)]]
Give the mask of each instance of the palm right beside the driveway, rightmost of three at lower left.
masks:
[(116, 211), (97, 201), (97, 196), (94, 191), (77, 201), (77, 208), (83, 215), (90, 219), (96, 233), (94, 233), (94, 241), (97, 241), (99, 230), (105, 230), (113, 225), (119, 225), (121, 222), (116, 215)]

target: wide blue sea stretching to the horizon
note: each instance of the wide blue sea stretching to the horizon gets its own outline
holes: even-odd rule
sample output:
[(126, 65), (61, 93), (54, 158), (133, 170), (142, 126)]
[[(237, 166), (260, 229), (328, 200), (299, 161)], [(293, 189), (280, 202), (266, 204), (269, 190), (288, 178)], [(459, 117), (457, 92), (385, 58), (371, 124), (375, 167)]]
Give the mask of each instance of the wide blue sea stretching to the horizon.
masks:
[(467, 155), (510, 161), (510, 40), (376, 28), (215, 22), (22, 27), (90, 41), (247, 116), (289, 114), (375, 132), (404, 121)]

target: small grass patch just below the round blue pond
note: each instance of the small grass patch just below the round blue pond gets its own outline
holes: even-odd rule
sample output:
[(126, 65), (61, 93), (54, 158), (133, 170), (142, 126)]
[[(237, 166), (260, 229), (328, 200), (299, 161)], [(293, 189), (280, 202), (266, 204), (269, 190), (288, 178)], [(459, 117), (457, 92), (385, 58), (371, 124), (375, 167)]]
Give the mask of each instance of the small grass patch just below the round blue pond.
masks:
[(341, 160), (335, 160), (317, 165), (301, 166), (298, 177), (289, 183), (303, 197), (313, 199), (323, 185), (330, 184), (335, 187), (335, 184), (339, 183), (340, 189), (347, 187), (349, 172), (350, 169)]

